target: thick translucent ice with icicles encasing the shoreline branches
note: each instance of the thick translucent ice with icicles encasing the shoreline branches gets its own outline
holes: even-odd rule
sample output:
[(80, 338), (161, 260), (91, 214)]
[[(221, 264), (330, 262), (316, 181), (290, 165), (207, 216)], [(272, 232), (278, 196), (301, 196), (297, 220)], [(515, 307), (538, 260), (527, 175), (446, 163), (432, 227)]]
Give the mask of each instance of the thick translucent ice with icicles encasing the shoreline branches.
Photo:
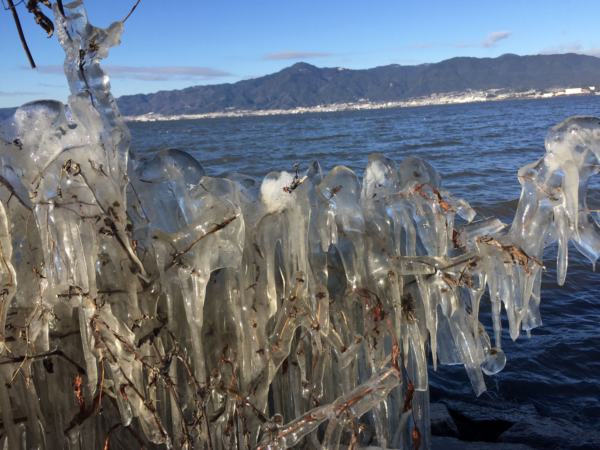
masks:
[(179, 149), (130, 150), (98, 65), (122, 22), (53, 11), (68, 104), (0, 124), (5, 449), (425, 448), (429, 352), (481, 394), (506, 362), (501, 303), (513, 339), (541, 325), (544, 248), (559, 284), (569, 239), (600, 254), (598, 118), (550, 131), (510, 226), (420, 158), (372, 154), (362, 185), (316, 160), (213, 178)]

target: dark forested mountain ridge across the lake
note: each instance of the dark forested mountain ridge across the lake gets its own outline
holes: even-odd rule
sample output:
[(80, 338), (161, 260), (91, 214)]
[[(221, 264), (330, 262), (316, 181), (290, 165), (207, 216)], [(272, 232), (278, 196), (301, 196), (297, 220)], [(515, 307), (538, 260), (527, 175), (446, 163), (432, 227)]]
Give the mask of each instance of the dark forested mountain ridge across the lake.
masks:
[[(446, 59), (434, 64), (391, 64), (371, 69), (318, 68), (305, 62), (237, 83), (193, 86), (117, 98), (122, 115), (202, 114), (349, 103), (402, 101), (467, 89), (551, 89), (600, 85), (600, 58), (563, 55)], [(14, 108), (0, 109), (0, 119)], [(5, 117), (4, 117), (5, 116)]]

